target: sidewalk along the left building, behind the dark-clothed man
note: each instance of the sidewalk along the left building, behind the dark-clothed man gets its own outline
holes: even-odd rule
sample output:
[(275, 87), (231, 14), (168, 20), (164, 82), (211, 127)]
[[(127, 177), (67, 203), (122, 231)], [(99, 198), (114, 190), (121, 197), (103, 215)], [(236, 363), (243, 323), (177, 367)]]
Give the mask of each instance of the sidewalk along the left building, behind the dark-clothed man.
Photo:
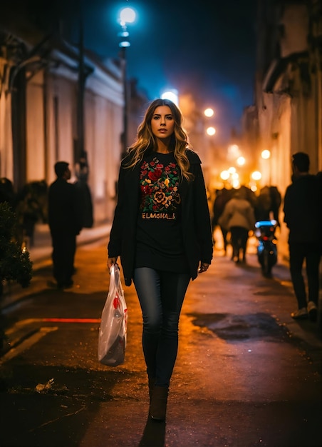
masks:
[[(85, 243), (92, 243), (105, 240), (108, 243), (108, 235), (110, 234), (110, 224), (98, 225), (93, 228), (83, 228), (81, 233), (77, 236), (77, 246), (82, 246)], [(28, 247), (27, 247), (28, 248)], [(38, 224), (36, 226), (34, 245), (28, 248), (30, 259), (33, 262), (33, 274), (39, 268), (51, 265), (51, 234), (47, 224)], [(0, 309), (4, 309), (14, 305), (14, 303), (30, 296), (33, 293), (41, 291), (41, 284), (31, 279), (30, 286), (22, 288), (17, 283), (10, 283), (4, 285), (4, 294), (0, 299)]]

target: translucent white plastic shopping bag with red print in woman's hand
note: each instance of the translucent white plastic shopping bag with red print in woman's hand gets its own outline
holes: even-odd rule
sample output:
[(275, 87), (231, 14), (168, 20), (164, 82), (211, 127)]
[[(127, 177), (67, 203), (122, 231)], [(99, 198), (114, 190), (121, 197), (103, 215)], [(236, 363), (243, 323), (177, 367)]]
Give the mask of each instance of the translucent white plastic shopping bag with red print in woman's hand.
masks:
[(120, 268), (113, 264), (110, 268), (110, 288), (100, 320), (98, 334), (98, 360), (108, 366), (118, 366), (124, 362), (128, 308), (120, 281)]

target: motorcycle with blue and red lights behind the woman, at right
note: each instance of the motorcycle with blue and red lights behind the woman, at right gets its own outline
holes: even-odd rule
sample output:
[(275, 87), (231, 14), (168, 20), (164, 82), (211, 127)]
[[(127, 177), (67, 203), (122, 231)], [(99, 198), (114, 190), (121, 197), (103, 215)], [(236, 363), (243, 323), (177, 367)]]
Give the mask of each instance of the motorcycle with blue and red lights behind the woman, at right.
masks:
[(271, 277), (271, 269), (277, 262), (277, 238), (275, 230), (277, 221), (258, 221), (255, 224), (255, 236), (258, 240), (257, 257), (261, 264), (261, 272)]

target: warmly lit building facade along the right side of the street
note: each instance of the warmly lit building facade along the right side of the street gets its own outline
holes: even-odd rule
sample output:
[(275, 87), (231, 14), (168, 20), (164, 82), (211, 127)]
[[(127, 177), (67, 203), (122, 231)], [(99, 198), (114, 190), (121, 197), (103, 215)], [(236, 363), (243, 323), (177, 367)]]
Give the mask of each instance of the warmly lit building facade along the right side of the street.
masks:
[[(291, 183), (291, 155), (306, 152), (311, 174), (322, 171), (322, 4), (259, 0), (254, 105), (244, 112), (261, 186)], [(269, 159), (261, 153), (268, 150)], [(281, 221), (283, 221), (281, 216)], [(281, 245), (287, 238), (281, 227)]]

